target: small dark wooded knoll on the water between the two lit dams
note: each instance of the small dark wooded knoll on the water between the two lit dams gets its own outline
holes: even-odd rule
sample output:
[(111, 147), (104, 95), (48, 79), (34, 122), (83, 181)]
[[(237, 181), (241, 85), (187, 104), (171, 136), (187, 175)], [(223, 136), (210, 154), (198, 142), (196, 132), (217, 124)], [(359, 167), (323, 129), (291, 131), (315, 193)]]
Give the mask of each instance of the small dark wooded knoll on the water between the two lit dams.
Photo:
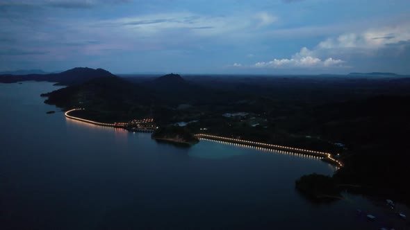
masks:
[(152, 139), (156, 141), (165, 141), (169, 143), (176, 143), (179, 145), (194, 145), (199, 142), (199, 139), (190, 133), (186, 127), (167, 126), (158, 128), (152, 135)]

